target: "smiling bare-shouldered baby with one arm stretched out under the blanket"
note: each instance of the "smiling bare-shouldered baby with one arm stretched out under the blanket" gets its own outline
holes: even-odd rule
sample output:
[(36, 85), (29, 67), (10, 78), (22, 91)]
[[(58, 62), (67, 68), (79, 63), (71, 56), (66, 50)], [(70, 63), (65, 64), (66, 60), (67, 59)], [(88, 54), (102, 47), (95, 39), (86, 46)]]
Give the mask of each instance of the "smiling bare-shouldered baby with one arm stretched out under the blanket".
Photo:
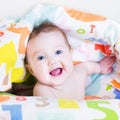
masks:
[(82, 100), (87, 77), (110, 73), (115, 60), (110, 56), (99, 63), (73, 65), (65, 33), (51, 23), (43, 23), (33, 30), (26, 50), (26, 67), (37, 79), (34, 96)]

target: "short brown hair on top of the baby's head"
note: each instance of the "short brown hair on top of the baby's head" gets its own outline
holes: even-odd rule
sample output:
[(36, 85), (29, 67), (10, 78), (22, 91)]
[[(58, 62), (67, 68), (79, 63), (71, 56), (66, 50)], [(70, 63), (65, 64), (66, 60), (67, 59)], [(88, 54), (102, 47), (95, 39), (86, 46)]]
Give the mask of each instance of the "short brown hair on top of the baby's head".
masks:
[(67, 43), (68, 47), (70, 48), (70, 44), (67, 40), (67, 36), (64, 33), (64, 31), (51, 22), (43, 22), (39, 26), (35, 27), (33, 29), (32, 33), (30, 34), (29, 40), (35, 38), (40, 33), (48, 33), (48, 32), (53, 32), (53, 31), (59, 31), (64, 36), (65, 42)]

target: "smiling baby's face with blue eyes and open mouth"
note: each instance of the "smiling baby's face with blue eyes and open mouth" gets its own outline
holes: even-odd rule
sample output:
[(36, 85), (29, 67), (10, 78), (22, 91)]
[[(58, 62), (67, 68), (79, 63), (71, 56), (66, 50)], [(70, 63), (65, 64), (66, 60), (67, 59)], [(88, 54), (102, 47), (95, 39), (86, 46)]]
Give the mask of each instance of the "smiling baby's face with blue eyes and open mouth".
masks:
[(70, 48), (58, 32), (40, 33), (27, 46), (27, 59), (40, 83), (61, 85), (73, 70)]

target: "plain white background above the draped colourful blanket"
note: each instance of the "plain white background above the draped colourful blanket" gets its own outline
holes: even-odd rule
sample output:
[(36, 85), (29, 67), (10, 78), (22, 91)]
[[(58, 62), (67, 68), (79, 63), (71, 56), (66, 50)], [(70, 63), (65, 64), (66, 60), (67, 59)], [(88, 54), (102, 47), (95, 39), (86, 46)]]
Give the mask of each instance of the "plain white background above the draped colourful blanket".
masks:
[(0, 18), (21, 17), (38, 3), (70, 7), (105, 16), (120, 23), (120, 0), (0, 0)]

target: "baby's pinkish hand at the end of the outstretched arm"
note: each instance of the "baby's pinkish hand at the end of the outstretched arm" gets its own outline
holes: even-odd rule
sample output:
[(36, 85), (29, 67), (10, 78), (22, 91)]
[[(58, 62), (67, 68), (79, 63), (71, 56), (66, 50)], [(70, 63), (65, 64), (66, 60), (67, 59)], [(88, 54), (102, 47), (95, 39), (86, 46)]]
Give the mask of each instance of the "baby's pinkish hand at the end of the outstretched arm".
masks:
[(113, 68), (112, 65), (115, 63), (116, 57), (115, 56), (108, 56), (104, 57), (100, 62), (101, 73), (108, 74), (111, 73)]

